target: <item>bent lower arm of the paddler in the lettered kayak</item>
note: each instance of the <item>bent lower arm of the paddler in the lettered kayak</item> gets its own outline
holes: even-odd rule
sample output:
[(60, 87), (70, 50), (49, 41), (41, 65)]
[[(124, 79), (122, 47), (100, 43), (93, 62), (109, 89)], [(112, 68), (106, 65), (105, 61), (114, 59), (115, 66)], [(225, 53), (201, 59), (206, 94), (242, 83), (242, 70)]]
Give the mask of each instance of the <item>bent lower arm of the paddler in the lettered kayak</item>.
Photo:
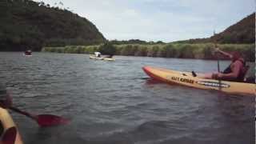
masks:
[(225, 79), (225, 78), (238, 78), (241, 66), (242, 66), (242, 62), (240, 62), (240, 61), (234, 62), (233, 66), (231, 67), (232, 73), (230, 73), (230, 74), (221, 74), (221, 73), (219, 73), (218, 78), (223, 78), (223, 79)]

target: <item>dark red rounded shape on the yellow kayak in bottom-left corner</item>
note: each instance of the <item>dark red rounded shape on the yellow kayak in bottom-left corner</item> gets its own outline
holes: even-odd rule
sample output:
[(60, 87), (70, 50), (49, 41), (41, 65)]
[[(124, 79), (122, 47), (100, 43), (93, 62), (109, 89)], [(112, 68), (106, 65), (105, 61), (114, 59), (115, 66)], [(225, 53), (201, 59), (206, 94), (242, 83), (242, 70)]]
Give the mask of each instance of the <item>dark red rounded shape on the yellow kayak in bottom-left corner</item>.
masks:
[(16, 134), (17, 134), (16, 128), (15, 127), (10, 127), (3, 134), (2, 143), (3, 144), (14, 144), (15, 139), (16, 139)]

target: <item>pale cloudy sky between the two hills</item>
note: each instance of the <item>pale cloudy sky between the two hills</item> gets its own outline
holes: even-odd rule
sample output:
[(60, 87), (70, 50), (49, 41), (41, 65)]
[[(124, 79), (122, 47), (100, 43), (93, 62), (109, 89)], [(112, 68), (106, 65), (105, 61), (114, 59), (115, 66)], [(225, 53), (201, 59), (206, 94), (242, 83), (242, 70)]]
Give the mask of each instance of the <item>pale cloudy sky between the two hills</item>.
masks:
[[(109, 40), (208, 38), (255, 11), (256, 0), (34, 0), (69, 7)], [(55, 5), (55, 2), (57, 5)], [(63, 6), (60, 4), (63, 3)]]

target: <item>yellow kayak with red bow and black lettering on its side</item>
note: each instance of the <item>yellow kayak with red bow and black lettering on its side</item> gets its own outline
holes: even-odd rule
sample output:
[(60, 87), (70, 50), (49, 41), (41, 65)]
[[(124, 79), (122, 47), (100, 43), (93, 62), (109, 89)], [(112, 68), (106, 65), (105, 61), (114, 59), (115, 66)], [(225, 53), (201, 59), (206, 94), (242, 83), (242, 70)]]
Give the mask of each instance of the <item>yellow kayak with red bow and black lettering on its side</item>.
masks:
[(232, 94), (254, 94), (256, 85), (243, 82), (218, 81), (193, 77), (190, 72), (166, 70), (150, 66), (142, 68), (151, 78), (171, 84), (190, 86), (198, 89), (221, 90)]

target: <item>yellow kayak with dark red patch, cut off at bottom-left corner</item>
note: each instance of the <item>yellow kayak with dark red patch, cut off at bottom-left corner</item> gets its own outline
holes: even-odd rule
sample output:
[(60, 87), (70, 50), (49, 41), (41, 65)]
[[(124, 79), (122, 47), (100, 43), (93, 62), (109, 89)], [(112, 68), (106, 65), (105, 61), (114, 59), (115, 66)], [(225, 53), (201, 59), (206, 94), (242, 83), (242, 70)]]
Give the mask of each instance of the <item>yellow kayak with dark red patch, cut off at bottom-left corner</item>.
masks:
[(2, 141), (7, 143), (14, 141), (14, 144), (22, 144), (22, 138), (18, 132), (18, 127), (14, 124), (13, 118), (11, 118), (9, 112), (6, 109), (2, 109), (1, 107), (0, 121), (3, 128), (1, 134)]

